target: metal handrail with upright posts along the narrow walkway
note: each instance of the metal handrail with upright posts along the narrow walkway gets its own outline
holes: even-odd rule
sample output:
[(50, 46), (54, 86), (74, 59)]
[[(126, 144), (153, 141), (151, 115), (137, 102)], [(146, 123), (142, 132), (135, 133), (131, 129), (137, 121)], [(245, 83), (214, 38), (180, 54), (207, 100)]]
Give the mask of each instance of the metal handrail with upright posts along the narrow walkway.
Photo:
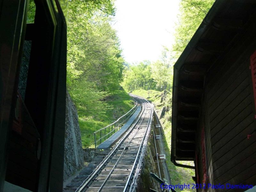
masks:
[[(108, 136), (108, 138), (109, 138), (109, 136), (110, 136), (110, 133), (111, 133), (111, 136), (113, 135), (113, 131), (114, 131), (114, 133), (116, 132), (116, 130), (118, 131), (120, 128), (121, 128), (121, 126), (123, 126), (123, 123), (125, 124), (127, 121), (128, 121), (128, 119), (132, 116), (132, 114), (136, 111), (136, 108), (137, 108), (137, 101), (136, 101), (136, 105), (130, 110), (130, 111), (128, 111), (126, 114), (124, 114), (123, 116), (121, 116), (121, 117), (119, 117), (114, 123), (112, 123), (112, 124), (110, 124), (110, 125), (108, 125), (108, 126), (106, 126), (106, 127), (104, 127), (104, 128), (101, 128), (101, 129), (99, 129), (98, 131), (96, 131), (96, 132), (94, 132), (94, 144), (95, 144), (95, 148), (96, 148), (96, 143), (98, 142), (98, 141), (100, 141), (100, 143), (101, 143), (101, 139), (103, 139), (104, 138), (104, 141), (106, 140), (106, 136)], [(129, 114), (129, 116), (126, 118), (126, 115), (127, 114)], [(120, 120), (121, 120), (121, 123), (120, 123)], [(118, 123), (117, 123), (118, 122)], [(113, 129), (113, 125), (114, 125), (114, 129)], [(121, 126), (120, 126), (121, 125)], [(112, 126), (112, 130), (110, 131), (110, 126)], [(108, 128), (108, 134), (106, 134), (106, 129)], [(118, 129), (119, 128), (119, 129)], [(105, 133), (104, 133), (104, 136), (102, 136), (102, 130), (104, 130), (105, 131)], [(100, 132), (100, 139), (98, 139), (98, 140), (96, 140), (96, 133), (97, 132)]]

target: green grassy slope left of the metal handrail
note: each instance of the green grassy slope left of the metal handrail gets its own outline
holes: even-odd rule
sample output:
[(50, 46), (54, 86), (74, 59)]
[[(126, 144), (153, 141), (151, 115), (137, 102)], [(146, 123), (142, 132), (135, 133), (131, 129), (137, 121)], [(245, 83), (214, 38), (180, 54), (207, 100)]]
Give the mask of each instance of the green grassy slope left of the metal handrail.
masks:
[(83, 148), (94, 148), (93, 132), (113, 123), (135, 105), (128, 93), (122, 90), (112, 92), (106, 98), (106, 102), (112, 108), (105, 111), (104, 115), (91, 114), (91, 116), (86, 118), (78, 118)]

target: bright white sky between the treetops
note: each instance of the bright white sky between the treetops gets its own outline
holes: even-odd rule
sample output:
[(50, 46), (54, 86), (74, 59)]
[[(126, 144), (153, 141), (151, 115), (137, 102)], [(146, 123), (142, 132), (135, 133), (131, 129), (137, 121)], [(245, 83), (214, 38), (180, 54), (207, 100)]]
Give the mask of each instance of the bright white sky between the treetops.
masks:
[(171, 48), (179, 0), (116, 0), (116, 23), (124, 59), (156, 61), (162, 45)]

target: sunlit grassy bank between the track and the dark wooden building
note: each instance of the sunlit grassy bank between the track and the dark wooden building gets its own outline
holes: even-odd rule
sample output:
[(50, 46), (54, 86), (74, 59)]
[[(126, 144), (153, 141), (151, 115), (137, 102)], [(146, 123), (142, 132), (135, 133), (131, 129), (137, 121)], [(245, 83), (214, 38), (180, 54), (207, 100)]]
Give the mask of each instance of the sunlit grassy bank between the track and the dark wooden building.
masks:
[[(139, 95), (144, 98), (148, 98), (148, 91), (146, 90), (135, 90), (132, 92), (132, 94)], [(164, 106), (164, 103), (161, 103), (161, 94), (162, 92), (150, 90), (149, 91), (149, 101), (151, 101), (154, 104), (157, 116), (160, 117), (161, 110)], [(187, 169), (187, 168), (182, 168), (182, 167), (176, 167), (172, 162), (171, 162), (171, 132), (172, 132), (172, 110), (169, 110), (164, 118), (160, 119), (160, 122), (163, 126), (164, 130), (164, 136), (163, 136), (163, 141), (164, 141), (164, 149), (165, 149), (165, 156), (166, 156), (166, 164), (168, 166), (168, 170), (170, 173), (170, 178), (172, 185), (177, 185), (177, 184), (191, 184), (194, 183), (192, 180), (192, 176), (195, 176), (195, 171), (192, 169)], [(189, 164), (193, 165), (192, 162), (189, 161), (182, 161), (180, 162), (181, 164)], [(180, 191), (179, 189), (175, 189), (176, 191)], [(183, 192), (186, 191), (196, 191), (195, 189), (184, 189), (182, 190)]]

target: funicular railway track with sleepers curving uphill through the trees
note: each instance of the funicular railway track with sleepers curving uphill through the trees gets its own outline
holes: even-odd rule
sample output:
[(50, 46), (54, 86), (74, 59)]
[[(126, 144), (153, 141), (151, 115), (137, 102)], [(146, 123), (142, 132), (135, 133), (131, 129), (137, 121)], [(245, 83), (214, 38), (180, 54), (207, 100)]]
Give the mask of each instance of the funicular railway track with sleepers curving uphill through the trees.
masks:
[(143, 152), (150, 132), (153, 108), (147, 100), (130, 95), (142, 105), (140, 115), (76, 192), (135, 190)]

